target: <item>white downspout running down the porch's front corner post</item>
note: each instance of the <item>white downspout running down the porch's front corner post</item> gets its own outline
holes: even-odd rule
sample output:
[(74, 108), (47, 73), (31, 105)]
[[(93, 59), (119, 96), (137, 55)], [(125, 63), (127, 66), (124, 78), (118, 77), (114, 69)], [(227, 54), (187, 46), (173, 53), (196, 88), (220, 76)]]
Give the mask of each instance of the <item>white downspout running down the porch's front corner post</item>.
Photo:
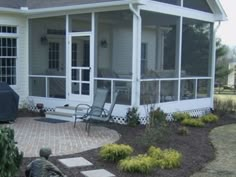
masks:
[(138, 107), (140, 95), (140, 64), (141, 64), (141, 16), (139, 10), (134, 8), (133, 3), (129, 3), (129, 9), (137, 17), (133, 18), (133, 42), (132, 42), (132, 95), (131, 106)]

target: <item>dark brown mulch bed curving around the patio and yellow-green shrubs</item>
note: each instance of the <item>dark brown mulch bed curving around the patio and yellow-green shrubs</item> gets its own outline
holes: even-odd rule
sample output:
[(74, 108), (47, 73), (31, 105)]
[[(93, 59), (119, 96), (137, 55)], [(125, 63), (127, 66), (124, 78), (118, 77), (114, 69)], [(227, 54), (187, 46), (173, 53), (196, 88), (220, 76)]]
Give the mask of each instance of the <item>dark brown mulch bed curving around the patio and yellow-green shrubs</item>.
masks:
[[(189, 128), (190, 134), (188, 136), (181, 136), (176, 133), (176, 124), (171, 123), (170, 125), (170, 136), (166, 137), (166, 141), (156, 144), (161, 148), (173, 148), (180, 151), (183, 154), (183, 162), (180, 168), (171, 170), (156, 169), (148, 175), (142, 174), (129, 174), (121, 172), (115, 164), (104, 162), (98, 156), (99, 149), (90, 150), (83, 153), (72, 154), (60, 157), (51, 157), (50, 160), (57, 165), (68, 177), (82, 177), (80, 171), (88, 169), (99, 169), (105, 168), (117, 177), (189, 177), (194, 172), (199, 171), (203, 166), (214, 159), (214, 148), (211, 145), (208, 137), (209, 132), (217, 126), (236, 123), (236, 116), (228, 115), (222, 117), (217, 123), (208, 124), (204, 128)], [(138, 140), (143, 132), (144, 127), (128, 127), (121, 125), (106, 125), (109, 128), (115, 129), (121, 134), (121, 139), (118, 143), (129, 144), (134, 147), (136, 153), (145, 153), (147, 148), (142, 146)], [(71, 168), (68, 169), (58, 162), (58, 158), (67, 157), (84, 157), (91, 161), (94, 166), (86, 168)], [(24, 170), (26, 165), (34, 160), (34, 158), (25, 158), (21, 166), (20, 174), (24, 176)], [(21, 177), (20, 176), (20, 177)]]

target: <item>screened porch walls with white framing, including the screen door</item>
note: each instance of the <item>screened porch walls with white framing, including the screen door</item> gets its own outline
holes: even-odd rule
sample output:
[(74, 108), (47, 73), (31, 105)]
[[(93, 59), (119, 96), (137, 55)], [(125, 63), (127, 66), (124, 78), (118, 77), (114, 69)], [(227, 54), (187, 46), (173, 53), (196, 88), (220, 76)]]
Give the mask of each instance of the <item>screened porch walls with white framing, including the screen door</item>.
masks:
[(119, 90), (129, 106), (209, 98), (213, 23), (140, 16), (140, 33), (130, 10), (30, 19), (30, 96), (91, 100), (105, 87), (107, 103)]

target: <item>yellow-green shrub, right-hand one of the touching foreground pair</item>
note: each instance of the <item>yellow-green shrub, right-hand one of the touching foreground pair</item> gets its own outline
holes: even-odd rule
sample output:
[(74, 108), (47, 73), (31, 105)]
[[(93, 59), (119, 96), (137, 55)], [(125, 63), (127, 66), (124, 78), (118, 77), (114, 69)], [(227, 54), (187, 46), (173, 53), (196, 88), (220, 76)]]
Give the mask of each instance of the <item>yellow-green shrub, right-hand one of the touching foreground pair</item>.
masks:
[(174, 149), (161, 150), (160, 148), (150, 147), (148, 156), (155, 161), (155, 166), (160, 168), (177, 168), (182, 162), (182, 154)]

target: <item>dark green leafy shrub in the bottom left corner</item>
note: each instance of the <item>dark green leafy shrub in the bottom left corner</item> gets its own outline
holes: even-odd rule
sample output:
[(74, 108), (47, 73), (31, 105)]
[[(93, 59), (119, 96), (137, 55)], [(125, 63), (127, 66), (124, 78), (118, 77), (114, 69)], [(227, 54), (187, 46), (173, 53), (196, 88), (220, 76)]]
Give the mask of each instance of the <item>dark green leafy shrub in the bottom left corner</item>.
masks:
[(0, 176), (13, 177), (18, 172), (23, 153), (14, 141), (14, 130), (0, 127)]

